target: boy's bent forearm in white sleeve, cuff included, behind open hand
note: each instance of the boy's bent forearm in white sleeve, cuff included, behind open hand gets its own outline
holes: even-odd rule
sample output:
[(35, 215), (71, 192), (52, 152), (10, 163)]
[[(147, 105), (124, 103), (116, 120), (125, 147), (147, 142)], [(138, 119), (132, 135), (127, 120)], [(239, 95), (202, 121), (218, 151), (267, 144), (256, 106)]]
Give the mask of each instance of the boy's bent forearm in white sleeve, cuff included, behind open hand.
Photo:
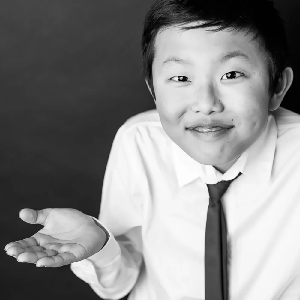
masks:
[(71, 270), (101, 298), (119, 299), (134, 287), (142, 260), (142, 253), (135, 251), (128, 240), (110, 234), (98, 253), (72, 263)]

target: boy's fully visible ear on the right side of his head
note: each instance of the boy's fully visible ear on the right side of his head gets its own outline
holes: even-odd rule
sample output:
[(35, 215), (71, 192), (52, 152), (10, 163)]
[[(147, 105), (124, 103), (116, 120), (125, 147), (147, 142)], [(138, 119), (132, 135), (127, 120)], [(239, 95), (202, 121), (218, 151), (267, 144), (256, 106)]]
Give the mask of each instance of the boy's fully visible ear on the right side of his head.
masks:
[(275, 88), (274, 94), (270, 99), (269, 110), (277, 110), (280, 106), (286, 92), (292, 85), (294, 79), (294, 73), (291, 67), (286, 67), (282, 72), (282, 75), (278, 81), (277, 87)]

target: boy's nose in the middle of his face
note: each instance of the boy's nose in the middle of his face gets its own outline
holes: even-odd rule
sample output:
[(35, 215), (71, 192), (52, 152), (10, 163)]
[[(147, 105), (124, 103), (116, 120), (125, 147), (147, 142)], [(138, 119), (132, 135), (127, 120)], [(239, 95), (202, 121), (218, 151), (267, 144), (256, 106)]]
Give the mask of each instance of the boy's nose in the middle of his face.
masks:
[(213, 85), (202, 85), (195, 89), (191, 100), (191, 110), (204, 115), (220, 113), (224, 110), (223, 103)]

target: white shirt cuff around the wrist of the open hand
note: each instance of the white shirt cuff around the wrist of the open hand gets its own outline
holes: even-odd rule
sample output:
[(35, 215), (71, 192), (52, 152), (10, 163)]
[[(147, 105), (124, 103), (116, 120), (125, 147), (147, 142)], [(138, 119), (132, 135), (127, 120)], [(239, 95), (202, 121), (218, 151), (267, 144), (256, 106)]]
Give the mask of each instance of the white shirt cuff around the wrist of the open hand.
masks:
[(111, 232), (98, 219), (95, 217), (92, 218), (94, 219), (95, 223), (104, 230), (108, 240), (101, 250), (88, 257), (86, 260), (92, 262), (93, 264), (96, 263), (96, 265), (99, 267), (106, 267), (107, 265), (110, 265), (110, 263), (112, 263), (117, 256), (121, 255), (121, 248)]

